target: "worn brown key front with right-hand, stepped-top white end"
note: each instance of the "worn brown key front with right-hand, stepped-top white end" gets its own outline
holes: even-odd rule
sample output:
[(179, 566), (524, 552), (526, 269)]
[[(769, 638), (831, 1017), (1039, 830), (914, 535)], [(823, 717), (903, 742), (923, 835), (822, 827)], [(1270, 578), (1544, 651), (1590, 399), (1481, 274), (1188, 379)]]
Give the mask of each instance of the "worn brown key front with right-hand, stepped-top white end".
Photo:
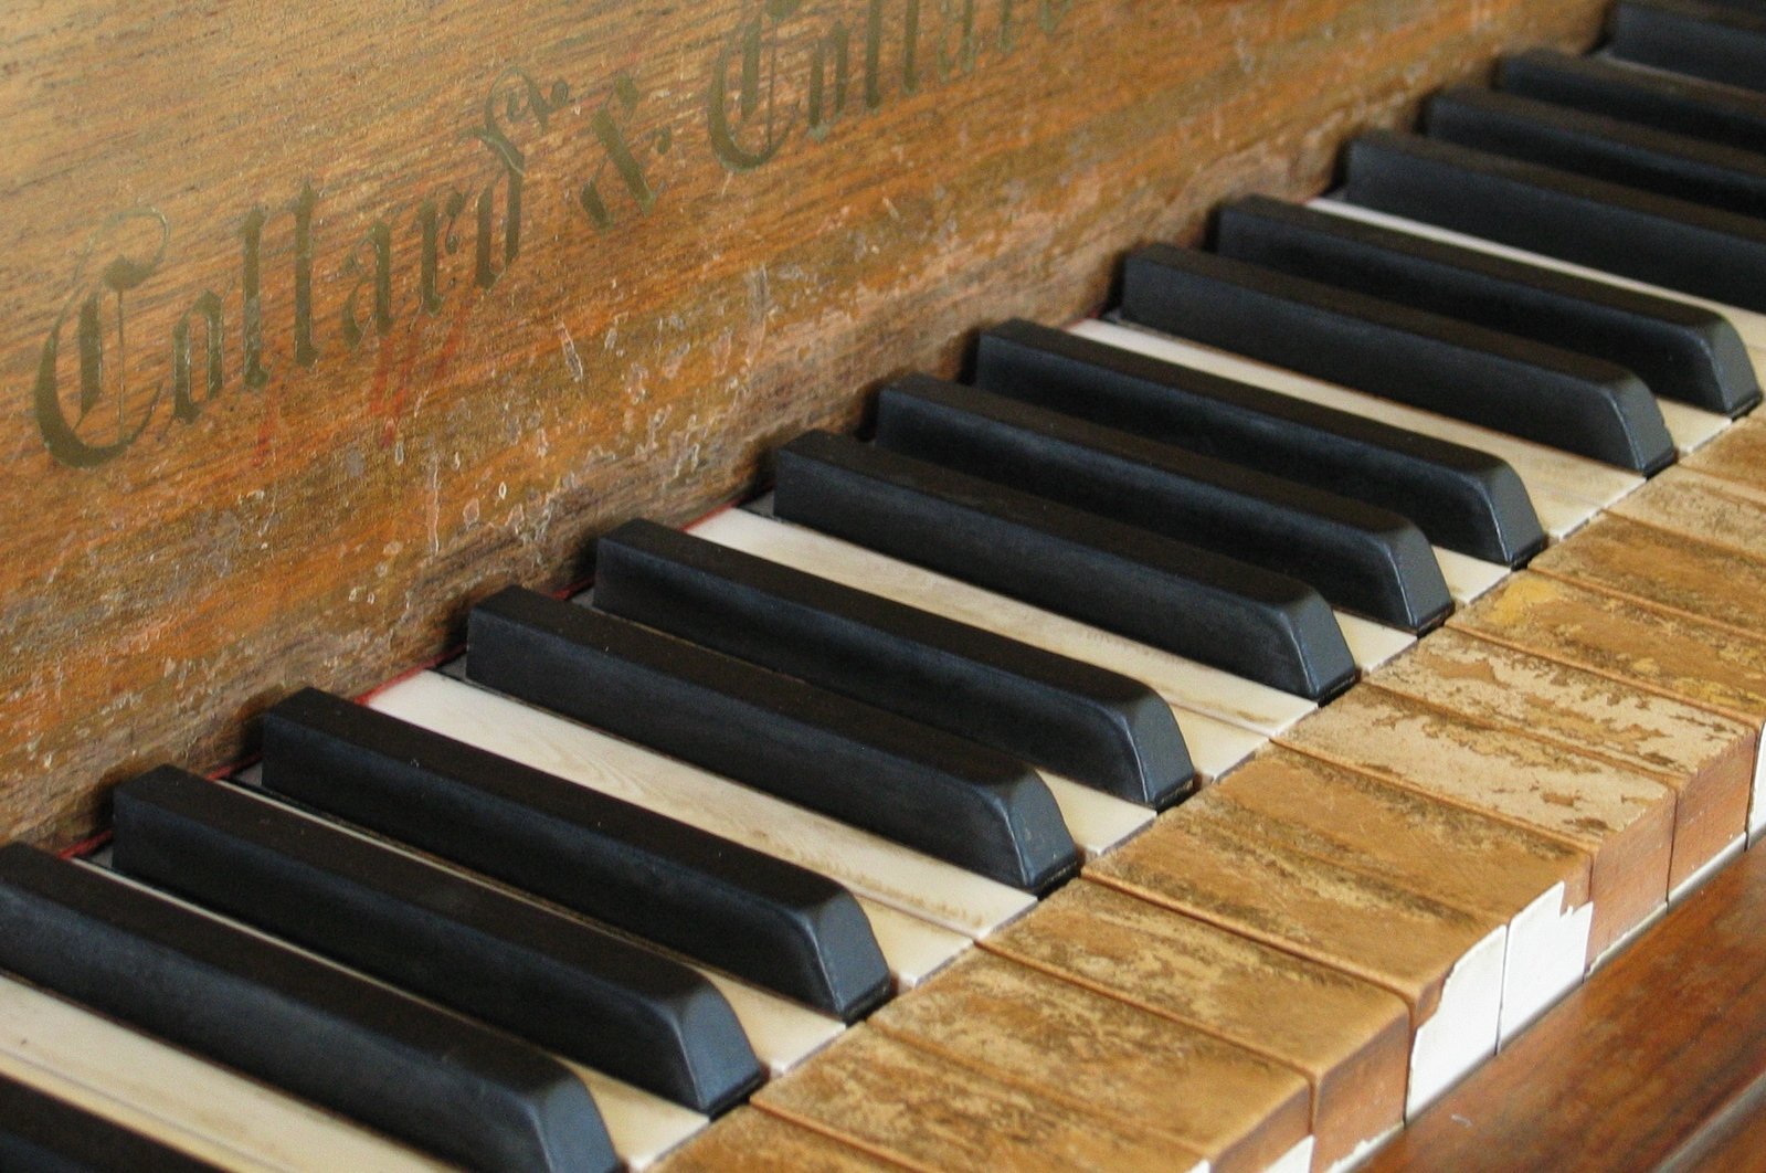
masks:
[(1501, 1037), (1582, 980), (1589, 855), (1370, 774), (1270, 749), (1204, 795), (1263, 839), (1508, 924)]

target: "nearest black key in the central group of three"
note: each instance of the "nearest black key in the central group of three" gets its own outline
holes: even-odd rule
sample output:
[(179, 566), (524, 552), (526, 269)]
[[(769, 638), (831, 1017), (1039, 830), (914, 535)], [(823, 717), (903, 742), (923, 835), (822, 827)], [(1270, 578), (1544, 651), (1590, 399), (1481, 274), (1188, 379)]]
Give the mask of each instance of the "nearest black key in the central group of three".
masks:
[(848, 436), (781, 449), (774, 511), (1286, 692), (1355, 682), (1330, 604), (1294, 578)]

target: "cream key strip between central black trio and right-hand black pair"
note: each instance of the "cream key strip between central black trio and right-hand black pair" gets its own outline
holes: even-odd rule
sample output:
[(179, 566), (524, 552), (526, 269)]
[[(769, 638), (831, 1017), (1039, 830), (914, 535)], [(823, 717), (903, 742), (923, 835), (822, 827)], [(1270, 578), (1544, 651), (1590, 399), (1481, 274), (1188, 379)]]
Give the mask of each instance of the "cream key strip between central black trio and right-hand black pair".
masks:
[(1612, 465), (1559, 452), (1543, 443), (1466, 424), (1392, 399), (1324, 383), (1305, 375), (1229, 355), (1222, 350), (1197, 346), (1196, 343), (1187, 343), (1167, 334), (1097, 320), (1081, 322), (1072, 332), (1153, 359), (1236, 378), (1284, 396), (1293, 396), (1294, 399), (1317, 403), (1360, 415), (1362, 419), (1379, 420), (1423, 436), (1462, 443), (1469, 449), (1499, 456), (1519, 473), (1521, 482), (1528, 488), (1528, 496), (1533, 498), (1533, 509), (1540, 516), (1540, 525), (1552, 537), (1566, 535), (1588, 521), (1598, 509), (1642, 484), (1642, 477), (1637, 473)]

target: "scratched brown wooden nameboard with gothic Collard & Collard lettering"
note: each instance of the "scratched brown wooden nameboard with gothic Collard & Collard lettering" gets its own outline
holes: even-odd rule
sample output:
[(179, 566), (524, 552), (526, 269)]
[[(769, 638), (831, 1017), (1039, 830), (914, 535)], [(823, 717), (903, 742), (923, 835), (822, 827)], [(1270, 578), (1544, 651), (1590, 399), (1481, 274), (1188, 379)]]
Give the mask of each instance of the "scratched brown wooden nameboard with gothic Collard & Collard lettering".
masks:
[(237, 760), (1604, 7), (7, 5), (0, 837)]

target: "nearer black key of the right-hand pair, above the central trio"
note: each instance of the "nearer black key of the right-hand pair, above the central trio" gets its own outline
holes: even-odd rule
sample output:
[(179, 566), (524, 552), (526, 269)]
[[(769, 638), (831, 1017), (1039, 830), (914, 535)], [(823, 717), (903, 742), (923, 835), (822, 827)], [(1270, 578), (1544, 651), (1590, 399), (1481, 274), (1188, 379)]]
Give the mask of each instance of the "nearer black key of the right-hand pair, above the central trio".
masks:
[(1674, 461), (1660, 408), (1625, 367), (1273, 269), (1141, 249), (1121, 314), (1621, 468)]

